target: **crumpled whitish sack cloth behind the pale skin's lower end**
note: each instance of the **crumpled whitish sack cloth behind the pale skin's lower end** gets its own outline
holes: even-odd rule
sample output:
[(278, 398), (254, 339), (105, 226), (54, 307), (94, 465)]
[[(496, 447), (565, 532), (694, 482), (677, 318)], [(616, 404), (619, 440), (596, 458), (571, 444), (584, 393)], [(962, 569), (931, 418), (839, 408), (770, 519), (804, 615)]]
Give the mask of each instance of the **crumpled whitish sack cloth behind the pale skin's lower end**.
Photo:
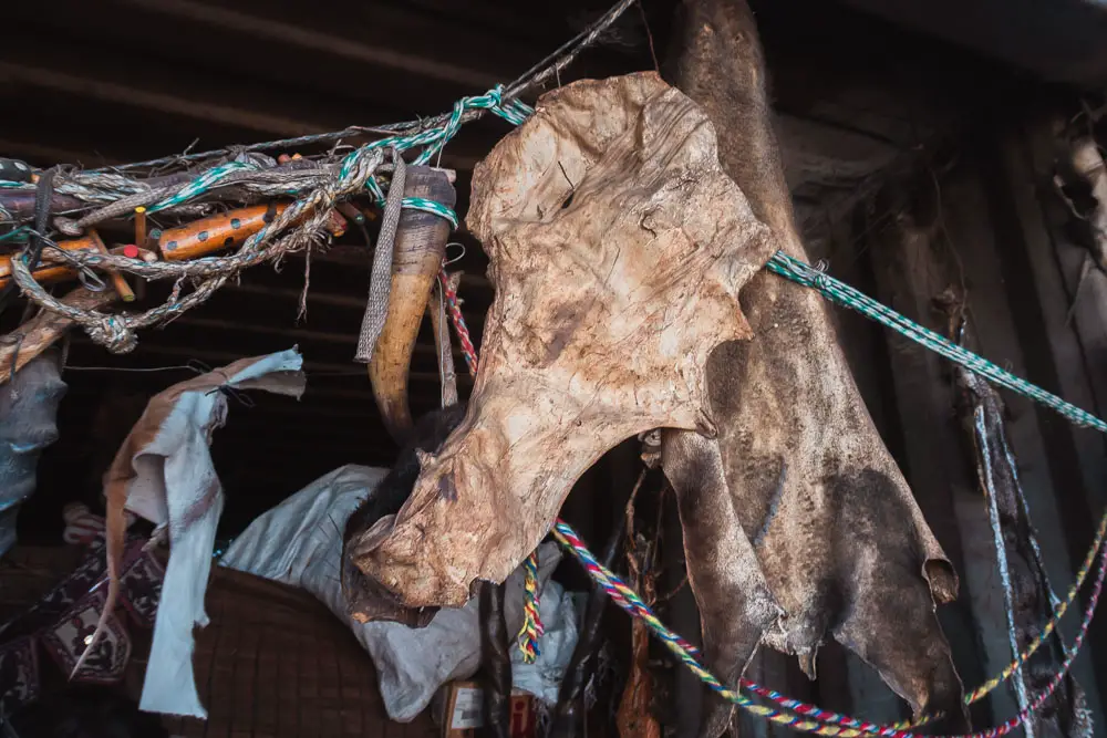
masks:
[[(406, 723), (423, 711), (441, 685), (476, 673), (480, 665), (479, 614), (475, 599), (464, 607), (439, 610), (423, 628), (386, 622), (362, 624), (346, 614), (340, 581), (342, 531), (384, 475), (384, 469), (349, 465), (317, 479), (255, 520), (219, 563), (300, 586), (330, 607), (373, 657), (389, 717)], [(544, 617), (550, 617), (549, 635), (539, 642), (542, 656), (532, 667), (524, 668), (521, 659), (513, 664), (513, 673), (525, 675), (525, 684), (517, 686), (537, 689), (539, 697), (550, 694), (551, 679), (556, 679), (555, 685), (560, 682), (557, 665), (560, 663), (563, 673), (563, 662), (577, 642), (572, 605), (568, 597), (561, 597), (560, 585), (548, 582), (559, 560), (556, 543), (539, 549), (539, 607)], [(523, 580), (520, 567), (507, 583), (505, 616), (511, 634), (523, 624)], [(517, 658), (517, 654), (513, 656), (513, 661)], [(556, 686), (552, 695), (556, 699)]]

